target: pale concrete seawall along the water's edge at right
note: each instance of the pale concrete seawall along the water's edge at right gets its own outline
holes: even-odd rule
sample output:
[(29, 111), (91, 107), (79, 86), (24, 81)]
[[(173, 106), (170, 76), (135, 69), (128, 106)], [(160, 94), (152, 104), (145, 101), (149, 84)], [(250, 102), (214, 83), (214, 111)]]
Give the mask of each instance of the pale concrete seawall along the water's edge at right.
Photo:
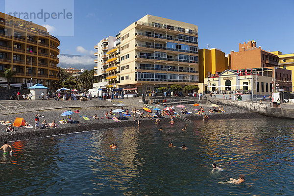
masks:
[(224, 99), (224, 100), (209, 99), (209, 100), (216, 104), (235, 106), (241, 109), (257, 112), (269, 117), (294, 119), (294, 109), (275, 108), (275, 107), (271, 107), (270, 103), (256, 103), (256, 102), (250, 102), (250, 101), (238, 101), (238, 100), (228, 100), (228, 99)]

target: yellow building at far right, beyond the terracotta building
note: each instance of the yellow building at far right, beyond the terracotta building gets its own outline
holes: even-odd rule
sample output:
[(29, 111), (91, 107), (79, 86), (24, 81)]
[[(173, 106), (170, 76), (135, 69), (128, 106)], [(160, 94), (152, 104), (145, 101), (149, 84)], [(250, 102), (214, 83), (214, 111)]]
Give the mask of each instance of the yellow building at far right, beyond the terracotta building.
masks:
[[(286, 85), (282, 85), (281, 87), (284, 88), (286, 91), (294, 91), (294, 84), (293, 84), (293, 80), (294, 80), (294, 75), (292, 73), (294, 73), (294, 53), (290, 53), (290, 54), (282, 54), (281, 51), (273, 51), (271, 52), (275, 55), (278, 55), (279, 57), (279, 67), (281, 69), (286, 69), (286, 70), (290, 70), (291, 73), (286, 73), (283, 75), (280, 75), (281, 80), (283, 80), (283, 82), (285, 83), (292, 83), (292, 88), (290, 88), (289, 90), (287, 90)], [(281, 88), (280, 87), (280, 88)]]

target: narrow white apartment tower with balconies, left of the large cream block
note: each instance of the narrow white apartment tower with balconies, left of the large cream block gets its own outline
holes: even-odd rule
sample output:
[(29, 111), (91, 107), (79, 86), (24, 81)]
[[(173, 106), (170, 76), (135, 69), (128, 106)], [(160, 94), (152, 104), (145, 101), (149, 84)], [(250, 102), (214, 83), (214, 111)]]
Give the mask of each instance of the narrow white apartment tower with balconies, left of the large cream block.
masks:
[(94, 55), (97, 56), (97, 59), (94, 62), (97, 63), (97, 66), (94, 67), (94, 76), (98, 78), (98, 82), (93, 84), (93, 88), (100, 88), (108, 85), (108, 81), (106, 79), (106, 69), (108, 67), (108, 63), (106, 61), (109, 60), (109, 51), (115, 49), (115, 47), (116, 38), (113, 36), (108, 36), (107, 38), (100, 40), (100, 42), (97, 45), (95, 45), (94, 49), (97, 49), (97, 52), (95, 52)]

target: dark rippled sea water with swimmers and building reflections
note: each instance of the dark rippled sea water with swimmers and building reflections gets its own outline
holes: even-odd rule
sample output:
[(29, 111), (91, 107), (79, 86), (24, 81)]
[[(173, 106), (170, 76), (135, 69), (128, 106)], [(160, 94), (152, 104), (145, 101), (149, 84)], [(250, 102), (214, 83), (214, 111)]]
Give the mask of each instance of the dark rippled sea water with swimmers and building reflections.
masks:
[[(0, 195), (294, 195), (294, 121), (175, 123), (13, 142)], [(239, 174), (245, 183), (219, 183)]]

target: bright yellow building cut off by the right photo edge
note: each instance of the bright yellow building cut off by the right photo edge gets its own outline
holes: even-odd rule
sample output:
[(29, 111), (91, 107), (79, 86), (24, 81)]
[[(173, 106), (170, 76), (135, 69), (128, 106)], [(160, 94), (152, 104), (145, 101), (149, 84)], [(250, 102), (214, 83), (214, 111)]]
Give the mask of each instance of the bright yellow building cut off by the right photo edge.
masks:
[[(294, 81), (294, 75), (293, 75), (293, 73), (294, 73), (294, 53), (282, 54), (281, 51), (273, 51), (271, 53), (278, 55), (279, 68), (283, 68), (283, 69), (287, 69), (287, 70), (292, 71), (292, 91), (294, 91), (294, 83), (293, 83), (293, 81)], [(291, 76), (290, 76), (290, 78), (291, 78)]]

